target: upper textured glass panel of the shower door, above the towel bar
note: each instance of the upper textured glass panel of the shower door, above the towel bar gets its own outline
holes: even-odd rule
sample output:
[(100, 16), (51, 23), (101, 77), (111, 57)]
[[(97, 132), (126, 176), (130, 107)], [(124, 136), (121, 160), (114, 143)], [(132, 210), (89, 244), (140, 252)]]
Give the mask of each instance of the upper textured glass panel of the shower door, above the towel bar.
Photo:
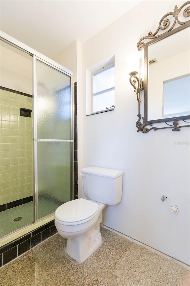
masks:
[(71, 139), (70, 77), (37, 60), (37, 137)]

